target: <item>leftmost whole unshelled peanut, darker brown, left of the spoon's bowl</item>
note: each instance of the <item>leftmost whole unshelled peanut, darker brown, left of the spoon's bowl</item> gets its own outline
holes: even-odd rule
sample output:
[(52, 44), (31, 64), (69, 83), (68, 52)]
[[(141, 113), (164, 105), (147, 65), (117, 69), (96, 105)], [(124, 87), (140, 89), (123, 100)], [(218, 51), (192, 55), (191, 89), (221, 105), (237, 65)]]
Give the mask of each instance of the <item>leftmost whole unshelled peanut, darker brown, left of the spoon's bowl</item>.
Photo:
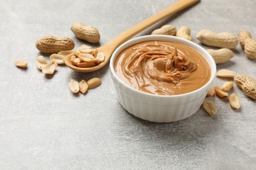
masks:
[(46, 36), (39, 39), (35, 46), (40, 52), (53, 54), (64, 50), (72, 50), (75, 43), (68, 37), (57, 38)]

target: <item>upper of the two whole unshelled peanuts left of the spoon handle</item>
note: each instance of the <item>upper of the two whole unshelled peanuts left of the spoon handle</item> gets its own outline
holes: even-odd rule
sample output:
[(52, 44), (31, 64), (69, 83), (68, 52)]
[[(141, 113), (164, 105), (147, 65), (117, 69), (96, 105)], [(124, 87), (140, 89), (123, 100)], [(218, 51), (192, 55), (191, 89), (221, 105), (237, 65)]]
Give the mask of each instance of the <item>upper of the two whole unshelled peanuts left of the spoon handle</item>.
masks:
[(71, 26), (71, 30), (77, 39), (83, 39), (92, 43), (100, 41), (100, 33), (95, 27), (85, 26), (81, 22), (76, 22)]

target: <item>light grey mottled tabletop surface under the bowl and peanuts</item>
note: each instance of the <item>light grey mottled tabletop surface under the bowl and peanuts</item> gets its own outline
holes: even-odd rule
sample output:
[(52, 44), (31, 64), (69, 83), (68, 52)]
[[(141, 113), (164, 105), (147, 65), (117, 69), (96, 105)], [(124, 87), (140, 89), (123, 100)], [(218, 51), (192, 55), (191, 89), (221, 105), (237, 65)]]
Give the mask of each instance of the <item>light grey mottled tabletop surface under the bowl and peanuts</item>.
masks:
[[(238, 93), (241, 109), (211, 97), (216, 116), (201, 108), (185, 120), (158, 124), (119, 105), (108, 66), (95, 73), (60, 66), (45, 76), (35, 65), (40, 37), (68, 36), (75, 46), (88, 44), (70, 31), (74, 22), (83, 22), (100, 31), (97, 47), (174, 2), (1, 0), (0, 169), (256, 169), (256, 105), (236, 85), (230, 93)], [(173, 24), (188, 25), (196, 43), (201, 29), (235, 35), (247, 29), (256, 39), (255, 7), (254, 0), (205, 0), (139, 35)], [(239, 45), (233, 51), (236, 56), (217, 69), (256, 78), (256, 61)], [(15, 67), (14, 59), (26, 59), (28, 69)], [(70, 78), (95, 76), (102, 78), (98, 88), (85, 95), (70, 92)], [(224, 81), (217, 78), (215, 85)]]

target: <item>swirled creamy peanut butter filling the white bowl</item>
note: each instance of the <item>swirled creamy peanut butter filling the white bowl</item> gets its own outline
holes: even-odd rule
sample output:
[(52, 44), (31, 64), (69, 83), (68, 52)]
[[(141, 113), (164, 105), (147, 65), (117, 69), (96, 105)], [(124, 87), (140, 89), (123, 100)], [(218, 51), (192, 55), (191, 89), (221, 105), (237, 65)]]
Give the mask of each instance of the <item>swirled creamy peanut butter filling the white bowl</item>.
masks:
[(192, 92), (211, 76), (209, 63), (199, 52), (185, 44), (163, 41), (126, 48), (117, 56), (115, 71), (125, 84), (157, 95)]

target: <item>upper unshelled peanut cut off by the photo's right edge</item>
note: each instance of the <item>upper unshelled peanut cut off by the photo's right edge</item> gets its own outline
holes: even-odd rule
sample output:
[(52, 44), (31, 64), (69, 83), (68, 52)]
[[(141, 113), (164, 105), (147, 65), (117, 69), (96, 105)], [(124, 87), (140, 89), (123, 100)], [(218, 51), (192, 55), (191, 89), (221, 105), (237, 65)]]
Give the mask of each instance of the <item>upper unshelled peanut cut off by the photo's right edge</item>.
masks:
[(251, 39), (249, 31), (240, 31), (238, 37), (247, 58), (256, 59), (256, 40)]

